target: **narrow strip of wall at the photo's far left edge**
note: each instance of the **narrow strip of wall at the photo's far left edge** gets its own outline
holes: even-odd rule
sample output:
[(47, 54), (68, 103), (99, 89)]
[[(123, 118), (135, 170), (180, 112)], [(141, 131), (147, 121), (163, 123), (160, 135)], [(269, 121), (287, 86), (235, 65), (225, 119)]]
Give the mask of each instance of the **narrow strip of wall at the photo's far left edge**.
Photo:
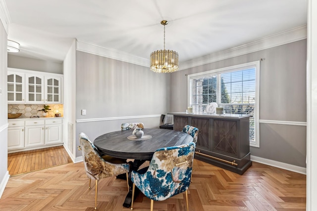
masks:
[[(1, 23), (1, 21), (0, 21)], [(0, 24), (0, 184), (5, 184), (8, 161), (8, 139), (7, 139), (7, 34)], [(0, 197), (2, 187), (0, 186)]]

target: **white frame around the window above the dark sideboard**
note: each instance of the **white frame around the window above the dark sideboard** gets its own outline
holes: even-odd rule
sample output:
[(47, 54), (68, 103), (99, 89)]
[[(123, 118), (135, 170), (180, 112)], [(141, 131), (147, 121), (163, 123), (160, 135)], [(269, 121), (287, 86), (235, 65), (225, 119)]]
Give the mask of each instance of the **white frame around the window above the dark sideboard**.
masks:
[(202, 73), (196, 73), (187, 75), (187, 104), (190, 106), (190, 79), (199, 78), (202, 76), (210, 76), (219, 73), (233, 72), (239, 70), (245, 70), (248, 68), (255, 68), (256, 70), (256, 105), (255, 105), (255, 141), (250, 141), (250, 146), (260, 147), (260, 61), (249, 62), (245, 64), (234, 65), (230, 67), (224, 67), (220, 69), (210, 70)]

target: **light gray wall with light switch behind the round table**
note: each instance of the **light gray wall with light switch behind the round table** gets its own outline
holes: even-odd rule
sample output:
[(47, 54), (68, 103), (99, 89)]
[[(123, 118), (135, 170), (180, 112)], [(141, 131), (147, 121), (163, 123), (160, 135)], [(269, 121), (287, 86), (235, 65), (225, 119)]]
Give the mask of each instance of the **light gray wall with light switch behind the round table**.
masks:
[[(76, 119), (95, 121), (77, 123), (76, 133), (85, 132), (94, 140), (103, 133), (119, 130), (124, 122), (159, 127), (159, 115), (169, 110), (169, 85), (169, 74), (157, 74), (149, 67), (77, 51)], [(87, 115), (81, 115), (82, 109), (86, 109)], [(158, 117), (138, 118), (147, 115)], [(125, 117), (137, 118), (118, 120)], [(115, 120), (98, 121), (101, 118)]]

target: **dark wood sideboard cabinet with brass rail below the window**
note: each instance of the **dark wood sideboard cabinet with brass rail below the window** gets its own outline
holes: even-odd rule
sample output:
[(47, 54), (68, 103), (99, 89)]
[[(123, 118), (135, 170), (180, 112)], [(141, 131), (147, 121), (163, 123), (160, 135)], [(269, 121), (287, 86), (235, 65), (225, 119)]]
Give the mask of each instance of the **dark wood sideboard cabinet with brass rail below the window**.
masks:
[(185, 125), (199, 129), (195, 158), (214, 166), (243, 174), (250, 160), (250, 115), (187, 114), (174, 115), (174, 130)]

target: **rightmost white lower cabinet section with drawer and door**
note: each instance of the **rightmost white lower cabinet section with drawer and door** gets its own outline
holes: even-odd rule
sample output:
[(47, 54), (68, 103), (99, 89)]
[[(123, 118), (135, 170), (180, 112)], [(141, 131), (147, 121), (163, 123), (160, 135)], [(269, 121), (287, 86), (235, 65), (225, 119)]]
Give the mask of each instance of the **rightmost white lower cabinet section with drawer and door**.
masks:
[(62, 142), (62, 119), (45, 120), (45, 144)]

